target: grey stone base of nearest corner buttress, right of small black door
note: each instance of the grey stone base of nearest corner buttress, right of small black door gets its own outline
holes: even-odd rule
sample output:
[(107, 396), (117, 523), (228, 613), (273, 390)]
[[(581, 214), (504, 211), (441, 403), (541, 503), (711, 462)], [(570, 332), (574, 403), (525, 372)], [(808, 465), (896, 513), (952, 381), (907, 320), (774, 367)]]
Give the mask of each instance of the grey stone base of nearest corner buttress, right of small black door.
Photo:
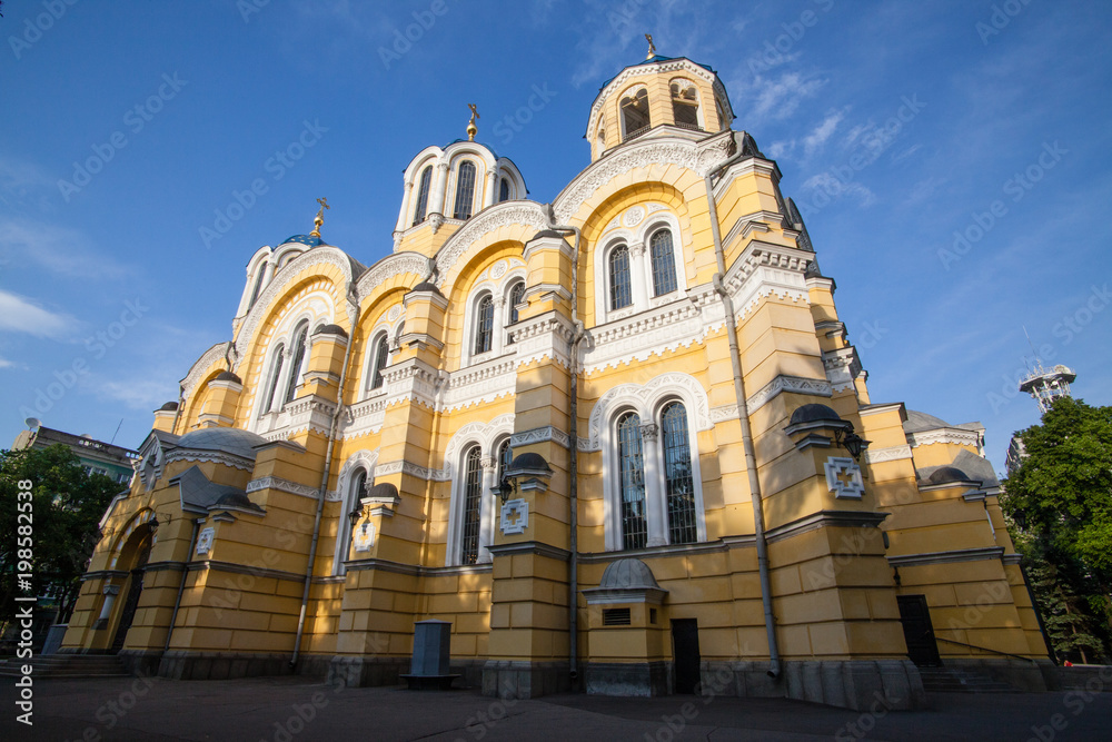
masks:
[(781, 663), (780, 677), (767, 662), (704, 662), (701, 693), (742, 698), (787, 698), (854, 711), (923, 709), (926, 694), (911, 660), (823, 660)]

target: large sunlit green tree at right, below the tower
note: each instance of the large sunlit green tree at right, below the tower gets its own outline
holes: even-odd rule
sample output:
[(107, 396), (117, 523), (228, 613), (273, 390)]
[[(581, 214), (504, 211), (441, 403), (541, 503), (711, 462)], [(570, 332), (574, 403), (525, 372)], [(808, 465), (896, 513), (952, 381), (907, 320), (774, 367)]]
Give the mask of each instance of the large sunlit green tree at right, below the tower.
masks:
[[(1062, 397), (1016, 434), (1026, 451), (1001, 506), (1055, 651), (1092, 660), (1112, 637), (1112, 407)], [(1037, 575), (1037, 576), (1035, 576)], [(1085, 649), (1091, 652), (1084, 652)], [(1082, 653), (1084, 653), (1082, 655)]]

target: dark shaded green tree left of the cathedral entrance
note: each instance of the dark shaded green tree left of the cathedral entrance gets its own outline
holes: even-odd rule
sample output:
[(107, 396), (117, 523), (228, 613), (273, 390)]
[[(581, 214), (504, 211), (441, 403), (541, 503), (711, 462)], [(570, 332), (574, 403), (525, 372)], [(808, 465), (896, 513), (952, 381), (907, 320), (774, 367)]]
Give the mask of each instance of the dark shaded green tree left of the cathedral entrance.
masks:
[[(31, 588), (18, 582), (19, 482), (32, 483)], [(59, 615), (68, 616), (80, 590), (89, 556), (99, 540), (98, 524), (120, 485), (103, 474), (86, 474), (77, 456), (62, 445), (0, 451), (0, 615), (10, 620), (16, 596), (52, 593)], [(23, 533), (27, 533), (24, 527)]]

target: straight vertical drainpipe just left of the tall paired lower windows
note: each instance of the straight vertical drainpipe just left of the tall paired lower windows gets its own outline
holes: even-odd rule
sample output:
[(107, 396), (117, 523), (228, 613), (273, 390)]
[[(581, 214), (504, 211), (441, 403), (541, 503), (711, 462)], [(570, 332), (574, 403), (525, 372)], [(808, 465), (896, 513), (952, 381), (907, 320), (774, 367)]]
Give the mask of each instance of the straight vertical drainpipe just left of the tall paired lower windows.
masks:
[[(549, 222), (552, 221), (552, 212), (549, 211)], [(569, 636), (568, 641), (570, 643), (568, 650), (568, 660), (570, 662), (570, 675), (572, 682), (579, 676), (579, 437), (578, 437), (578, 409), (579, 409), (579, 342), (583, 340), (584, 335), (586, 335), (586, 329), (583, 323), (579, 321), (578, 317), (578, 279), (576, 278), (579, 268), (579, 238), (582, 233), (578, 227), (572, 227), (567, 225), (553, 225), (553, 231), (562, 233), (574, 233), (575, 234), (575, 246), (572, 251), (572, 325), (575, 327), (572, 335), (570, 343), (570, 364), (572, 364), (572, 400), (569, 405), (568, 414), (572, 417), (572, 423), (568, 425), (568, 448), (570, 449), (570, 491), (568, 493), (570, 499), (570, 517), (569, 525), (572, 528), (572, 538), (568, 546), (572, 551), (569, 572), (570, 572), (570, 594), (572, 598), (568, 602), (568, 630)]]

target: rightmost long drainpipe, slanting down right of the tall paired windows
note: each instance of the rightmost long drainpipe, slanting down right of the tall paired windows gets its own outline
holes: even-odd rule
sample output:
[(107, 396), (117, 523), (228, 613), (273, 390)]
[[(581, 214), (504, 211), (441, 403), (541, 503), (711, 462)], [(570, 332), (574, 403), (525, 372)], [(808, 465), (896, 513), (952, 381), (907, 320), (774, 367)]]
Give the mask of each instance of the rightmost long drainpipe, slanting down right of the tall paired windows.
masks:
[(726, 310), (726, 335), (729, 339), (729, 363), (734, 369), (734, 395), (737, 397), (737, 415), (742, 423), (742, 448), (745, 452), (745, 469), (749, 476), (749, 492), (753, 498), (753, 530), (757, 544), (757, 572), (761, 576), (761, 603), (764, 605), (765, 633), (768, 635), (768, 676), (777, 677), (781, 672), (780, 645), (776, 643), (776, 616), (772, 612), (772, 586), (768, 581), (768, 542), (765, 538), (764, 506), (761, 502), (761, 481), (757, 478), (756, 457), (753, 454), (753, 432), (749, 428), (749, 410), (745, 404), (745, 382), (742, 378), (742, 356), (737, 347), (737, 327), (734, 326), (734, 303), (723, 285), (726, 275), (726, 256), (722, 247), (718, 229), (718, 208), (714, 201), (714, 185), (711, 178), (734, 162), (746, 157), (737, 154), (729, 157), (706, 174), (706, 202), (711, 209), (711, 234), (714, 237), (714, 257), (718, 273), (712, 278), (714, 290), (722, 297)]

